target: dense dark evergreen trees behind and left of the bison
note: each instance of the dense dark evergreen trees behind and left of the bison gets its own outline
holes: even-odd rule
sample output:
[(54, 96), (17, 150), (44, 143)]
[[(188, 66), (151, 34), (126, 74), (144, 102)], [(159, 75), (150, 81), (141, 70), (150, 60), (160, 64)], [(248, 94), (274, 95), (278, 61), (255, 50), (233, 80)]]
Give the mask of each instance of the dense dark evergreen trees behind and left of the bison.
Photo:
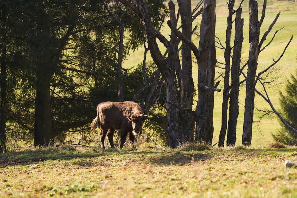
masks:
[[(158, 26), (164, 5), (154, 1), (152, 6)], [(143, 75), (152, 75), (154, 68), (148, 64), (142, 75), (119, 66), (129, 50), (143, 45), (143, 30), (133, 15), (113, 1), (1, 1), (3, 150), (6, 136), (33, 138), (34, 145), (54, 138), (63, 142), (71, 134), (87, 139), (99, 102), (133, 98)], [(125, 39), (119, 38), (119, 21)]]

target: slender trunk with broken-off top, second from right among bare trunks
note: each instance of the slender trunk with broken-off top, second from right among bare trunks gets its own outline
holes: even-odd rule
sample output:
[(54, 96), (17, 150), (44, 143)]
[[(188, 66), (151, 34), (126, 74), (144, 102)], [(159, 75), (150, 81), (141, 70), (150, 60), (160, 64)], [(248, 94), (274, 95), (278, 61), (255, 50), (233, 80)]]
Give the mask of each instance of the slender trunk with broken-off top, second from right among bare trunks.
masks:
[(241, 47), (243, 42), (243, 22), (241, 19), (241, 8), (236, 11), (235, 19), (235, 39), (233, 47), (232, 67), (231, 67), (231, 88), (229, 103), (229, 120), (227, 133), (227, 146), (234, 146), (236, 142), (236, 126), (239, 114), (238, 94), (239, 94), (239, 76), (241, 63)]

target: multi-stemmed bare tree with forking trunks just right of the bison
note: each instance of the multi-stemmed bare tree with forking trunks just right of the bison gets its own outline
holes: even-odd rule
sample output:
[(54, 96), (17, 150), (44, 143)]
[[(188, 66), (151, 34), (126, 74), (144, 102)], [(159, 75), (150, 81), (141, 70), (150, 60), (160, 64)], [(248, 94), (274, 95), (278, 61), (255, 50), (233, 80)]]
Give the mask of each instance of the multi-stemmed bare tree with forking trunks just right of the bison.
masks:
[[(130, 7), (142, 20), (151, 57), (165, 80), (165, 106), (167, 110), (167, 132), (170, 146), (176, 148), (186, 141), (192, 141), (194, 139), (195, 130), (193, 127), (194, 123), (192, 115), (194, 85), (192, 80), (192, 66), (189, 65), (191, 57), (186, 57), (191, 54), (188, 46), (183, 45), (182, 47), (184, 59), (182, 59), (182, 65), (180, 65), (178, 39), (175, 33), (172, 31), (170, 40), (167, 40), (162, 34), (154, 29), (149, 15), (149, 7), (143, 0), (131, 2), (126, 0), (120, 1)], [(170, 19), (173, 21), (173, 26), (176, 28), (177, 17), (175, 16), (175, 9), (172, 1), (169, 2), (169, 7)], [(191, 23), (193, 17), (197, 17), (197, 14), (192, 13), (191, 10), (189, 11), (189, 9), (191, 9), (191, 1), (179, 1), (179, 8), (182, 24), (185, 23), (185, 25), (182, 25), (181, 29), (186, 35), (185, 37), (190, 39), (192, 34)], [(198, 10), (197, 8), (195, 9)], [(189, 30), (187, 28), (189, 28)], [(168, 51), (167, 57), (160, 53), (156, 38), (166, 47)]]

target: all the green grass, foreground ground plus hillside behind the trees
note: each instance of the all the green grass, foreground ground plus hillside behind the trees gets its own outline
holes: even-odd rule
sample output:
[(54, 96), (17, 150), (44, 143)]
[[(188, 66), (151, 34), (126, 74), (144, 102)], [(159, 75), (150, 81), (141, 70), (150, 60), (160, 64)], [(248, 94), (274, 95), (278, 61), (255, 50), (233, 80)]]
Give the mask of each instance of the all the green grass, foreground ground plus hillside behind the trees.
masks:
[[(260, 1), (258, 1), (260, 4)], [(248, 14), (245, 9), (245, 44), (243, 60), (248, 53)], [(273, 32), (282, 29), (274, 42), (260, 54), (261, 68), (272, 63), (282, 53), (291, 35), (297, 31), (296, 3), (269, 1), (261, 34), (281, 12)], [(217, 36), (224, 42), (226, 3), (217, 0)], [(164, 27), (164, 32), (168, 31)], [(198, 43), (198, 40), (195, 39)], [(281, 62), (285, 82), (296, 69), (296, 38), (293, 39)], [(142, 60), (142, 51), (131, 53), (124, 63), (132, 67)], [(223, 61), (217, 50), (217, 59)], [(129, 64), (129, 65), (128, 65)], [(276, 74), (275, 74), (276, 75)], [(197, 84), (197, 67), (193, 64)], [(220, 84), (222, 86), (222, 83)], [(269, 95), (279, 107), (279, 91), (284, 84), (269, 88)], [(123, 149), (98, 146), (74, 147), (55, 145), (48, 148), (14, 148), (0, 154), (0, 197), (297, 197), (297, 169), (285, 168), (285, 160), (297, 161), (297, 147), (285, 147), (273, 142), (271, 132), (279, 129), (277, 118), (255, 123), (252, 146), (241, 146), (244, 112), (244, 87), (240, 90), (238, 137), (235, 147), (218, 148), (189, 143), (178, 149), (138, 140)], [(214, 143), (221, 126), (222, 93), (215, 95)], [(265, 108), (257, 97), (256, 107)], [(259, 113), (256, 112), (256, 115)], [(255, 115), (255, 121), (258, 120)], [(96, 137), (98, 138), (98, 137)]]

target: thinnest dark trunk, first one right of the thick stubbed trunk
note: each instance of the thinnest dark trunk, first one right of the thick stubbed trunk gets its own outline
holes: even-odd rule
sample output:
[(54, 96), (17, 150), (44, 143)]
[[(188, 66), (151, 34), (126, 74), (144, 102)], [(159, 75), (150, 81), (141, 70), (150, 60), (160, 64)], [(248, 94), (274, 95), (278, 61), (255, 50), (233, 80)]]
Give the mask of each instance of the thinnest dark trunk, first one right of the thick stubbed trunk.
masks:
[(225, 57), (225, 76), (224, 76), (224, 91), (222, 102), (222, 126), (219, 134), (219, 147), (224, 147), (226, 130), (227, 130), (227, 111), (229, 100), (229, 77), (230, 77), (230, 54), (231, 54), (231, 31), (232, 31), (232, 15), (233, 15), (234, 0), (229, 0), (228, 8), (229, 15), (227, 17), (227, 29), (226, 29), (226, 49), (224, 52)]

